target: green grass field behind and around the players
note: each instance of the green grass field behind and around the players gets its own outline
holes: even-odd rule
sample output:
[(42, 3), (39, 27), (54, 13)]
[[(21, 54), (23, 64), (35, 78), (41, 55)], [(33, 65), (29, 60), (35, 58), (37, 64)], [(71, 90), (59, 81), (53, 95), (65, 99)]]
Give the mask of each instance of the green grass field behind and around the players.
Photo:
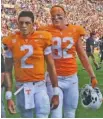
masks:
[[(99, 61), (98, 57), (97, 57), (97, 61)], [(81, 88), (85, 84), (89, 83), (89, 77), (87, 75), (87, 72), (83, 70), (83, 67), (78, 59), (77, 59), (77, 62), (78, 62), (79, 86)], [(96, 71), (91, 59), (90, 59), (90, 62), (91, 62), (91, 65), (93, 66), (93, 69), (98, 79), (98, 83), (99, 83), (98, 87), (101, 89), (102, 94), (103, 94), (103, 64), (102, 64), (102, 68)], [(9, 114), (7, 109), (6, 109), (6, 112), (7, 112), (7, 118), (19, 118), (20, 117), (19, 114), (15, 114), (15, 115)], [(78, 109), (76, 112), (76, 118), (103, 118), (103, 104), (101, 108), (98, 110), (86, 110), (81, 106), (81, 103), (79, 100), (79, 105), (78, 105)]]

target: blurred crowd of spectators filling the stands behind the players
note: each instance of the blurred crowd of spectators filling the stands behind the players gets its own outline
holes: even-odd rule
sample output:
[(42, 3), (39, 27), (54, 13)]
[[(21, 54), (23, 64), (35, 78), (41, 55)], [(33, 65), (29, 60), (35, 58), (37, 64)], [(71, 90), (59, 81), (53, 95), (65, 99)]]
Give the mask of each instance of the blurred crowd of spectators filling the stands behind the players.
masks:
[(21, 10), (35, 14), (34, 29), (50, 24), (49, 9), (60, 4), (67, 12), (67, 23), (85, 27), (87, 32), (103, 35), (103, 0), (1, 0), (2, 35), (17, 29), (17, 15)]

